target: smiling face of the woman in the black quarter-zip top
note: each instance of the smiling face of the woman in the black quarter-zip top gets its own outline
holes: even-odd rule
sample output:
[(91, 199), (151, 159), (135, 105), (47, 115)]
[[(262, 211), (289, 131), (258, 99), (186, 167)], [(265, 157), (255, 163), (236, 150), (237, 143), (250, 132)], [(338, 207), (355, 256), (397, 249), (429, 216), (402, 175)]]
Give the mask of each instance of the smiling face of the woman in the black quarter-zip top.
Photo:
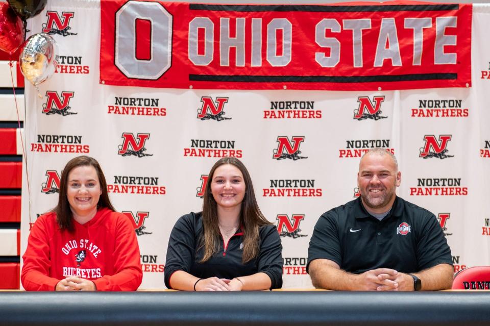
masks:
[(213, 173), (211, 193), (218, 207), (239, 207), (245, 196), (243, 174), (234, 165), (223, 164), (219, 166)]

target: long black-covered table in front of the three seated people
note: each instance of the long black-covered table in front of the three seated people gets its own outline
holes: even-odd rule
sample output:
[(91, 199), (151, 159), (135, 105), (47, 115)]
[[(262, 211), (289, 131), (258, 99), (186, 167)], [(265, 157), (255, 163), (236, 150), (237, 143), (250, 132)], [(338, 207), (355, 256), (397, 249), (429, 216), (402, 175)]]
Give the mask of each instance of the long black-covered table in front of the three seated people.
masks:
[(490, 293), (0, 292), (1, 325), (488, 325)]

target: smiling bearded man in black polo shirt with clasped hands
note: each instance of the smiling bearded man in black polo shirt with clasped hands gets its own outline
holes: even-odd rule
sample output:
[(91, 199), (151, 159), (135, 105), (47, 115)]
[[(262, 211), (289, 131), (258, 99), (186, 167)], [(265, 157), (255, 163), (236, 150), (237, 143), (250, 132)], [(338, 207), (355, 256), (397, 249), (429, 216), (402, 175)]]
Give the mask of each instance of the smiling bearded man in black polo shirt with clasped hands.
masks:
[(451, 250), (431, 212), (396, 195), (395, 156), (374, 148), (360, 161), (361, 196), (324, 213), (315, 225), (306, 270), (330, 290), (451, 288)]

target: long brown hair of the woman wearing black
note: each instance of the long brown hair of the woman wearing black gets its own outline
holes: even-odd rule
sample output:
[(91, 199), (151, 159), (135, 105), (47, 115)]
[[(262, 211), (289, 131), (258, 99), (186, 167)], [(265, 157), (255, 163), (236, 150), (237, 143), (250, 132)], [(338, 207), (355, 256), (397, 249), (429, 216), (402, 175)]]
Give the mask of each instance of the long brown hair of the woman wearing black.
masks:
[(214, 171), (224, 164), (231, 164), (238, 168), (243, 175), (243, 181), (245, 182), (245, 196), (241, 202), (240, 207), (240, 224), (243, 226), (243, 255), (242, 263), (246, 263), (259, 254), (259, 228), (262, 225), (272, 224), (269, 222), (257, 205), (255, 199), (254, 186), (252, 185), (252, 179), (250, 178), (249, 171), (243, 165), (243, 163), (234, 157), (224, 157), (214, 163), (211, 171), (209, 171), (208, 182), (206, 183), (206, 189), (204, 192), (203, 202), (203, 227), (204, 235), (201, 237), (201, 247), (204, 247), (204, 257), (201, 263), (207, 261), (216, 252), (219, 245), (219, 225), (216, 200), (211, 193), (211, 183), (214, 175)]

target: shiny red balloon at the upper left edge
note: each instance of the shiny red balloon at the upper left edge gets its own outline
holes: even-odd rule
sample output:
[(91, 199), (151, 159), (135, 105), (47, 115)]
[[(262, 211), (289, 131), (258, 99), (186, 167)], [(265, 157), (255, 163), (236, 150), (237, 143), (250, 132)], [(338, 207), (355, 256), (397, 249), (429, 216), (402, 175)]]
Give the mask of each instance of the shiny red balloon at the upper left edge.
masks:
[(8, 3), (0, 2), (0, 49), (13, 54), (26, 36), (22, 19), (15, 14)]

